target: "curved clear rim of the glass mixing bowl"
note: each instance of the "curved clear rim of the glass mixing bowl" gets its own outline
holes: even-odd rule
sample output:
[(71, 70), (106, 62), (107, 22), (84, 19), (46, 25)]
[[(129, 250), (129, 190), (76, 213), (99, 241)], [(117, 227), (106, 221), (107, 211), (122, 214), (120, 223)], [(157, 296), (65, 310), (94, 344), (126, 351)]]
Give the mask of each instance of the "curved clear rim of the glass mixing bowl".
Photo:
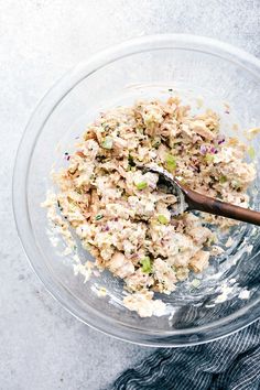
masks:
[[(254, 77), (260, 78), (260, 61), (253, 55), (228, 43), (199, 35), (145, 35), (122, 42), (95, 54), (89, 61), (80, 62), (56, 82), (41, 99), (31, 116), (17, 151), (12, 180), (12, 205), (18, 235), (29, 262), (39, 279), (45, 285), (46, 290), (63, 305), (63, 307), (84, 324), (116, 338), (144, 346), (177, 347), (209, 343), (214, 339), (226, 337), (250, 325), (260, 317), (260, 306), (258, 308), (260, 297), (223, 319), (217, 319), (210, 324), (195, 328), (163, 331), (163, 334), (160, 332), (149, 333), (147, 329), (144, 333), (143, 328), (134, 328), (132, 326), (127, 326), (126, 324), (122, 325), (122, 323), (93, 310), (93, 307), (88, 306), (86, 303), (88, 312), (83, 313), (79, 307), (75, 307), (71, 302), (68, 304), (69, 292), (62, 291), (62, 294), (56, 285), (53, 284), (53, 279), (50, 275), (43, 274), (41, 266), (34, 261), (36, 253), (39, 253), (39, 248), (34, 240), (33, 228), (30, 223), (26, 194), (33, 149), (47, 118), (64, 97), (84, 78), (119, 58), (145, 51), (165, 48), (186, 48), (189, 51), (206, 52), (207, 54), (221, 57), (223, 59), (246, 67), (246, 69), (252, 73)], [(41, 126), (39, 126), (39, 123), (41, 123)], [(35, 129), (37, 129), (37, 131), (35, 131)], [(17, 188), (19, 188), (19, 191), (17, 191)], [(23, 207), (21, 207), (21, 205), (23, 205)], [(26, 209), (26, 215), (24, 215), (23, 209)], [(31, 236), (31, 240), (28, 239), (28, 234)], [(31, 245), (30, 242), (33, 243)], [(254, 313), (249, 316), (248, 312), (252, 308), (254, 308)], [(86, 313), (87, 315), (84, 315)], [(106, 318), (105, 325), (102, 322), (98, 323), (97, 317)]]

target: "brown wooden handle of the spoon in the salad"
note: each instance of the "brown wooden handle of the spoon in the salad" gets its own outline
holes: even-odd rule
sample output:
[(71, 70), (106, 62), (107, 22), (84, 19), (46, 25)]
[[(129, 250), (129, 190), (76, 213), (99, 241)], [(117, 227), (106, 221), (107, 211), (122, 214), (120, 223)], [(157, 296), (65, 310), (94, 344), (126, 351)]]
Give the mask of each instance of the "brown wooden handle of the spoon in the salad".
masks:
[(195, 191), (186, 189), (186, 202), (189, 209), (210, 213), (221, 217), (242, 220), (245, 223), (260, 226), (260, 213), (248, 208), (231, 205), (226, 202), (214, 199), (196, 193)]

